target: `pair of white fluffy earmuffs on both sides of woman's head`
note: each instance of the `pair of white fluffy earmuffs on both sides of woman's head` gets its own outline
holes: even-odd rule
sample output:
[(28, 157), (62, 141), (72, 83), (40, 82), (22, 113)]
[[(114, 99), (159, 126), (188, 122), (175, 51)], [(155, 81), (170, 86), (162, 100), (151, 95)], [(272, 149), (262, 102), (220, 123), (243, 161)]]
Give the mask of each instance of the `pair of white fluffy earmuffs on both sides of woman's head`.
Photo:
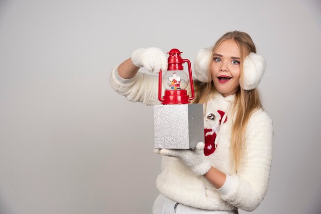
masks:
[[(210, 61), (212, 60), (212, 47), (200, 49), (194, 61), (196, 79), (202, 82), (211, 81), (209, 75)], [(256, 53), (250, 53), (243, 62), (244, 81), (241, 87), (244, 90), (255, 89), (261, 81), (266, 69), (265, 58)]]

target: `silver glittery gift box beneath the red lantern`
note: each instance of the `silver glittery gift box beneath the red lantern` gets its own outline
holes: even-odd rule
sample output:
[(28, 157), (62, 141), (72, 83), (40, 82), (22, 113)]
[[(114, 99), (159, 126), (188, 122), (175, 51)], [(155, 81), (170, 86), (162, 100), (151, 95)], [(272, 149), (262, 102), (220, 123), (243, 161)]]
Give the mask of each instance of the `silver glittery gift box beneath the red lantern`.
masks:
[(155, 148), (194, 148), (204, 142), (203, 104), (154, 105)]

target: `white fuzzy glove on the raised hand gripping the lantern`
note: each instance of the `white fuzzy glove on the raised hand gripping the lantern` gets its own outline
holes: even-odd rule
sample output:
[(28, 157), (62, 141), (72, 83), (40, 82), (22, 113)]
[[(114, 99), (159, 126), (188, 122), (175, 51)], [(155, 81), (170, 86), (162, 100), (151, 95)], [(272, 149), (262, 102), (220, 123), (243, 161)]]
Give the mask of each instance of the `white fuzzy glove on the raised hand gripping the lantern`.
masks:
[(131, 55), (131, 60), (137, 67), (144, 67), (151, 73), (167, 70), (166, 54), (159, 48), (140, 48)]

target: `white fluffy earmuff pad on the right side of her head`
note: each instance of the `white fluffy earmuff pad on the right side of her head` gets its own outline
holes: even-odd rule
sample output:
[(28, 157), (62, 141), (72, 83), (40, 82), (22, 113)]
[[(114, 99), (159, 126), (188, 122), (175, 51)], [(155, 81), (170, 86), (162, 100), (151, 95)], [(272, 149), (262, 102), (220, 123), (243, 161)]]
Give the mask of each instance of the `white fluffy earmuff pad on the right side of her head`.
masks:
[(240, 82), (240, 87), (244, 90), (255, 89), (261, 81), (266, 69), (265, 58), (256, 53), (250, 53), (245, 57), (243, 62), (243, 84)]

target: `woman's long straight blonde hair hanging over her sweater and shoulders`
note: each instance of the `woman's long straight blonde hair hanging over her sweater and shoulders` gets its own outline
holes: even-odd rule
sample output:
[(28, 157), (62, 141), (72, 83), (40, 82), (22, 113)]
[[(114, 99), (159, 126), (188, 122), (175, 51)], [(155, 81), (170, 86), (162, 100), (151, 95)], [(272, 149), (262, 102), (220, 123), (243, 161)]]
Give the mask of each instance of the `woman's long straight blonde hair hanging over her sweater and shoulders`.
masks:
[[(215, 53), (220, 44), (225, 40), (234, 40), (239, 49), (240, 55), (240, 84), (243, 84), (244, 73), (243, 73), (243, 61), (244, 58), (251, 52), (256, 53), (256, 48), (252, 38), (245, 32), (232, 31), (227, 32), (222, 37), (220, 37), (212, 50), (212, 54)], [(211, 71), (212, 60), (210, 61), (209, 71)], [(209, 78), (211, 79), (211, 72), (208, 72)], [(242, 151), (246, 148), (246, 127), (251, 114), (257, 110), (261, 109), (262, 104), (260, 102), (260, 97), (257, 89), (244, 90), (242, 85), (239, 85), (238, 90), (235, 94), (235, 101), (233, 104), (232, 115), (232, 133), (231, 133), (231, 154), (234, 159), (234, 171), (237, 171), (240, 160), (242, 158)], [(216, 89), (214, 87), (213, 81), (208, 83), (194, 81), (194, 88), (197, 92), (195, 95), (195, 103), (206, 103), (215, 93)]]

